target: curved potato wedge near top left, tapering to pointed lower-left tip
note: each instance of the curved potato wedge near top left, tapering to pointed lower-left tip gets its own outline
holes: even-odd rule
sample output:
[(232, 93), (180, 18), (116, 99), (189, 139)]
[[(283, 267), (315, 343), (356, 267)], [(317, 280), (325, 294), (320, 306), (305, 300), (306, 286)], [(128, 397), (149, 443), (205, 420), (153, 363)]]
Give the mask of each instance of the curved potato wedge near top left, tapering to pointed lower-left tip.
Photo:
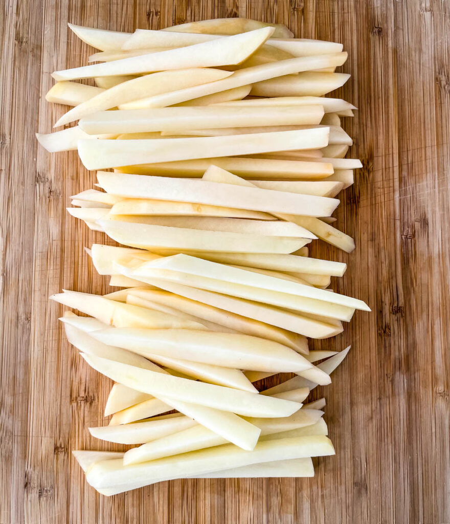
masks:
[(188, 88), (201, 83), (221, 80), (227, 78), (230, 74), (231, 73), (219, 69), (207, 68), (161, 71), (119, 83), (107, 90), (93, 88), (99, 92), (65, 113), (54, 126), (57, 127), (68, 124), (69, 122), (91, 115), (97, 111), (111, 109), (120, 104), (139, 100), (144, 96), (165, 93), (173, 90), (175, 86), (177, 86), (177, 89)]

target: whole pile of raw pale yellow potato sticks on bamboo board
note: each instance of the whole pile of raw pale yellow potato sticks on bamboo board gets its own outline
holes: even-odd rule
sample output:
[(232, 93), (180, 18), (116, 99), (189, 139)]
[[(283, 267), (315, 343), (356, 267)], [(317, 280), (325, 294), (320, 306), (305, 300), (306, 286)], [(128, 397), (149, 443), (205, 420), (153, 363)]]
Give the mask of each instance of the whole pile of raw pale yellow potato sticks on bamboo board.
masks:
[[(329, 288), (345, 264), (308, 256), (314, 239), (355, 247), (332, 225), (361, 167), (341, 127), (355, 107), (324, 96), (348, 79), (335, 72), (347, 54), (243, 18), (70, 28), (97, 63), (53, 73), (47, 101), (72, 106), (55, 127), (71, 126), (37, 137), (97, 170), (68, 211), (124, 247), (86, 249), (118, 291), (51, 298), (89, 315), (64, 313), (68, 340), (114, 381), (109, 425), (91, 434), (138, 444), (74, 451), (87, 482), (114, 495), (173, 478), (313, 476), (312, 457), (334, 448), (325, 400), (305, 400), (349, 348), (309, 351), (307, 339), (370, 311)], [(294, 378), (253, 384), (278, 373)]]

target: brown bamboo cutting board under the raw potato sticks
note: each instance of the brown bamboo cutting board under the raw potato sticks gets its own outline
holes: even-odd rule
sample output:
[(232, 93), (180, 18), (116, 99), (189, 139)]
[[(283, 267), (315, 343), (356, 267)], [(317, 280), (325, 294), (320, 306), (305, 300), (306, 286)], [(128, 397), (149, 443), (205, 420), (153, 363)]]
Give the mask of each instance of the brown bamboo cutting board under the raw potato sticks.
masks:
[[(450, 522), (449, 12), (445, 0), (5, 0), (0, 524)], [(69, 347), (62, 309), (48, 303), (61, 287), (107, 291), (83, 252), (104, 237), (65, 212), (93, 173), (75, 152), (37, 147), (34, 133), (64, 111), (44, 95), (53, 70), (93, 52), (68, 21), (133, 31), (237, 15), (349, 53), (353, 76), (337, 96), (359, 107), (344, 127), (364, 168), (337, 224), (357, 249), (319, 244), (313, 255), (346, 261), (333, 288), (372, 314), (320, 346), (353, 346), (323, 388), (337, 454), (316, 461), (313, 479), (173, 481), (106, 498), (71, 450), (106, 449), (86, 428), (104, 423), (110, 382)]]

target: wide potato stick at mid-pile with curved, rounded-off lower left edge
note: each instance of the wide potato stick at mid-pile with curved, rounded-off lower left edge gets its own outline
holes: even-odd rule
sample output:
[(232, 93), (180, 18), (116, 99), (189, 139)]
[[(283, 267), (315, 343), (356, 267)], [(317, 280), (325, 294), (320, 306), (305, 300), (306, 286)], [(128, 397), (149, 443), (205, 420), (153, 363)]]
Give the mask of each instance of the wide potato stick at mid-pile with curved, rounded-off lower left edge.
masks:
[(171, 249), (195, 253), (208, 249), (236, 253), (292, 253), (309, 242), (292, 237), (190, 230), (114, 220), (101, 220), (98, 224), (116, 242), (154, 252)]

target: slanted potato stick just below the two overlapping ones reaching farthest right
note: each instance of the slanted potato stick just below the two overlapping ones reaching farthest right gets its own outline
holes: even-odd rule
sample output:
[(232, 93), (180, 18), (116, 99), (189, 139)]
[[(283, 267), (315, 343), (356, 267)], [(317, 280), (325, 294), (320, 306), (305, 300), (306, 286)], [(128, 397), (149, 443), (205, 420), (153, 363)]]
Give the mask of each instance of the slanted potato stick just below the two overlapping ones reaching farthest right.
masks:
[(182, 297), (247, 316), (248, 318), (278, 326), (313, 339), (323, 339), (342, 332), (342, 327), (339, 328), (331, 323), (308, 318), (288, 310), (281, 310), (267, 304), (243, 300), (203, 289), (195, 289), (167, 280), (152, 279), (152, 281), (159, 288), (179, 294)]

